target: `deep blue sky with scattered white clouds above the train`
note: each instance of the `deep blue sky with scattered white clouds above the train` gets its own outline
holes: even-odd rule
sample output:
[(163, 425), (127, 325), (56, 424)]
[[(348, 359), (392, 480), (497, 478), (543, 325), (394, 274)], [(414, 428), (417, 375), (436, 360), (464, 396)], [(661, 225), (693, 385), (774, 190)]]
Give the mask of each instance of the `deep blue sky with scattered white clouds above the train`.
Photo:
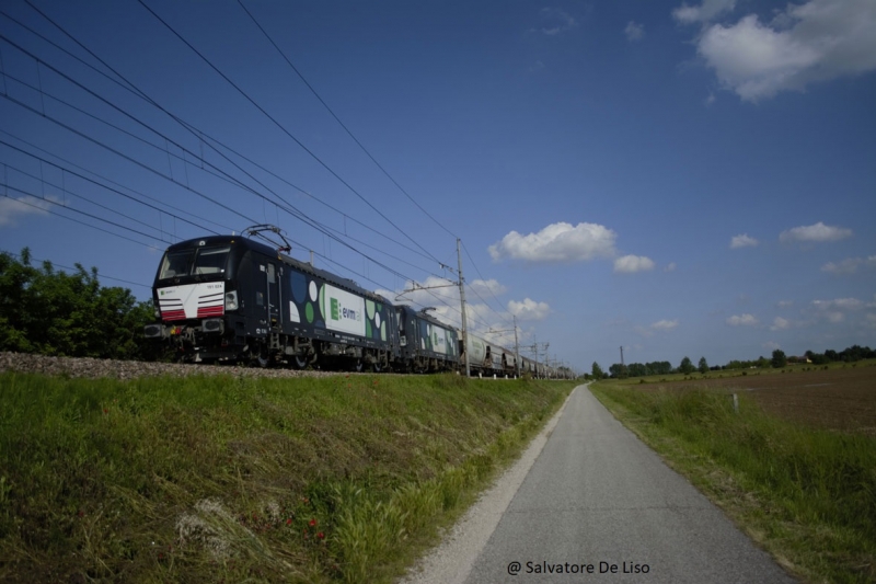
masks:
[(269, 222), (394, 300), (460, 238), (474, 330), (579, 371), (876, 345), (872, 0), (31, 2), (2, 250), (146, 299), (171, 242)]

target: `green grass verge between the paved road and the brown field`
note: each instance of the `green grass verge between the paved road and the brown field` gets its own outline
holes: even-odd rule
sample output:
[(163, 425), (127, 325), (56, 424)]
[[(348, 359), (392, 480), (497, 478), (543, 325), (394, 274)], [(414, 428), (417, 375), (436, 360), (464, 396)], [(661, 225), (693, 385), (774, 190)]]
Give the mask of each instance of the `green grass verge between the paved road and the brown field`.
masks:
[(809, 582), (876, 582), (876, 438), (765, 414), (740, 393), (593, 394), (791, 572)]

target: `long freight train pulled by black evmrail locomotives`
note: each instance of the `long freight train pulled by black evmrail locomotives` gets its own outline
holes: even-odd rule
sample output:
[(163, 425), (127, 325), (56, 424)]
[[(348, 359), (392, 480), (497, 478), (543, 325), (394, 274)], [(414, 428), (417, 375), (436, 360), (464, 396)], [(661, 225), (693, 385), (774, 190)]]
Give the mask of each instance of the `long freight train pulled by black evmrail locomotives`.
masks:
[[(274, 229), (276, 232), (276, 228)], [(254, 231), (253, 231), (254, 232)], [(251, 232), (251, 234), (253, 233)], [(423, 310), (244, 236), (170, 245), (155, 273), (145, 335), (192, 363), (362, 371), (561, 377), (565, 371), (468, 335)]]

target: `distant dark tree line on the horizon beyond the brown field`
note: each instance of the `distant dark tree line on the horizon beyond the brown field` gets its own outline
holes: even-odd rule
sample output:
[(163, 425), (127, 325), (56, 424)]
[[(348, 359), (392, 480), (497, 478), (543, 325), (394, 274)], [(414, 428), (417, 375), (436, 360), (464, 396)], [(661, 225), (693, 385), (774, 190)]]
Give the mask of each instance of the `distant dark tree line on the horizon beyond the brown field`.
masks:
[(589, 374), (585, 374), (588, 379), (607, 379), (611, 378), (626, 378), (626, 377), (645, 377), (649, 375), (669, 375), (669, 374), (683, 374), (691, 375), (694, 371), (701, 374), (708, 373), (710, 370), (725, 370), (725, 369), (751, 369), (751, 368), (781, 368), (788, 364), (795, 363), (811, 363), (814, 365), (826, 365), (828, 363), (854, 363), (861, 359), (876, 358), (876, 351), (868, 346), (853, 345), (843, 351), (837, 352), (833, 350), (825, 351), (823, 353), (815, 353), (807, 351), (803, 356), (787, 356), (781, 348), (776, 348), (772, 353), (772, 358), (763, 356), (752, 360), (734, 359), (726, 365), (717, 365), (710, 367), (705, 357), (700, 357), (700, 360), (694, 366), (690, 357), (684, 357), (679, 363), (678, 367), (672, 367), (668, 360), (653, 362), (653, 363), (630, 363), (620, 364), (614, 363), (606, 371), (602, 367), (593, 362)]

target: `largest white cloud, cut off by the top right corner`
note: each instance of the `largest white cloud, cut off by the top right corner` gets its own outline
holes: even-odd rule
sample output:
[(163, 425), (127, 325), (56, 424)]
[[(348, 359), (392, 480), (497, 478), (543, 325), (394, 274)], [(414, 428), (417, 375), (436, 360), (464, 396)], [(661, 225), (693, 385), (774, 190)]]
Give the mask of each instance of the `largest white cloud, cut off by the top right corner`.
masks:
[[(705, 23), (733, 4), (705, 1), (682, 5), (673, 15), (683, 23)], [(733, 25), (706, 25), (698, 51), (725, 88), (751, 102), (865, 73), (876, 69), (876, 2), (810, 0), (788, 3), (770, 23), (749, 14)]]

